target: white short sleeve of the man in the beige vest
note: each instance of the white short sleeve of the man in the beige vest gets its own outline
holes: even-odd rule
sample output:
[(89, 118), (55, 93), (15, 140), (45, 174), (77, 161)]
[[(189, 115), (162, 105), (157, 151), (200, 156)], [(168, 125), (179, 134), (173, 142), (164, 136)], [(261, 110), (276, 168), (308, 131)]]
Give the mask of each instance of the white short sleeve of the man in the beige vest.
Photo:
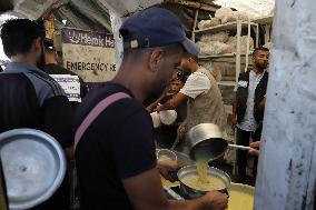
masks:
[(210, 89), (210, 81), (208, 77), (201, 72), (196, 71), (188, 77), (180, 92), (182, 94), (190, 97), (191, 99), (195, 99), (199, 94), (208, 92), (209, 89)]

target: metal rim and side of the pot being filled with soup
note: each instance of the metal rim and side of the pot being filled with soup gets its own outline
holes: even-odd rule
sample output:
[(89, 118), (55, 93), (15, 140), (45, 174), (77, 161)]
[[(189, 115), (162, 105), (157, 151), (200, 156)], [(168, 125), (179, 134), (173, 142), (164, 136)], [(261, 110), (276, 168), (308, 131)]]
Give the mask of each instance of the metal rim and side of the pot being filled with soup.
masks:
[[(182, 182), (182, 180), (187, 177), (187, 176), (198, 176), (197, 173), (197, 167), (196, 166), (187, 166), (187, 167), (182, 167), (179, 171), (178, 171), (178, 179), (180, 181), (180, 193), (185, 199), (196, 199), (199, 198), (201, 196), (204, 196), (205, 193), (207, 193), (207, 191), (203, 191), (203, 190), (198, 190), (198, 189), (194, 189), (187, 184), (185, 184)], [(211, 174), (214, 177), (217, 177), (219, 179), (221, 179), (225, 183), (225, 188), (224, 189), (218, 189), (218, 190), (224, 190), (226, 191), (226, 189), (229, 188), (230, 184), (230, 178), (227, 173), (225, 173), (224, 171), (216, 169), (214, 167), (210, 167), (208, 170), (208, 174)]]

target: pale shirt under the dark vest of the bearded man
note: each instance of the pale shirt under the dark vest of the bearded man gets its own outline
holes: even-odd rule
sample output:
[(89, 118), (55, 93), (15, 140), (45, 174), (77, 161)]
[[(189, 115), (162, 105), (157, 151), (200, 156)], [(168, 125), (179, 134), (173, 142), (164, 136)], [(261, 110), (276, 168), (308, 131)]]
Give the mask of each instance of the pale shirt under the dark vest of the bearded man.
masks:
[(260, 74), (256, 74), (254, 71), (250, 71), (249, 73), (247, 109), (244, 120), (237, 124), (237, 127), (241, 130), (255, 132), (258, 127), (254, 117), (255, 90), (263, 77), (264, 72)]

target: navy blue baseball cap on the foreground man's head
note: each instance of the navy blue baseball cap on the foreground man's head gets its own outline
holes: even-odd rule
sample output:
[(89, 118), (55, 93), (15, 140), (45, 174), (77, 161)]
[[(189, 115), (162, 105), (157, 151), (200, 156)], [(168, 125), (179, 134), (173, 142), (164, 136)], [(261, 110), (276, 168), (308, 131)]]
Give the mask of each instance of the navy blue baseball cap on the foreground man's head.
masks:
[(179, 18), (161, 8), (149, 8), (129, 17), (119, 32), (124, 39), (124, 49), (180, 43), (191, 56), (198, 56), (200, 51), (199, 47), (186, 37)]

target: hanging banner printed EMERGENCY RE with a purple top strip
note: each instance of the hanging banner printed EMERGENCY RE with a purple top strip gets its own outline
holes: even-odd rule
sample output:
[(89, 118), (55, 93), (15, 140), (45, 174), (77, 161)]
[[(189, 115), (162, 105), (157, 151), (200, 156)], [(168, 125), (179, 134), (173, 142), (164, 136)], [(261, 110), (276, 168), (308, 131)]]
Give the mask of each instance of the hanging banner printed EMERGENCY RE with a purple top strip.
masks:
[(112, 34), (63, 28), (63, 67), (85, 82), (105, 82), (116, 74)]

